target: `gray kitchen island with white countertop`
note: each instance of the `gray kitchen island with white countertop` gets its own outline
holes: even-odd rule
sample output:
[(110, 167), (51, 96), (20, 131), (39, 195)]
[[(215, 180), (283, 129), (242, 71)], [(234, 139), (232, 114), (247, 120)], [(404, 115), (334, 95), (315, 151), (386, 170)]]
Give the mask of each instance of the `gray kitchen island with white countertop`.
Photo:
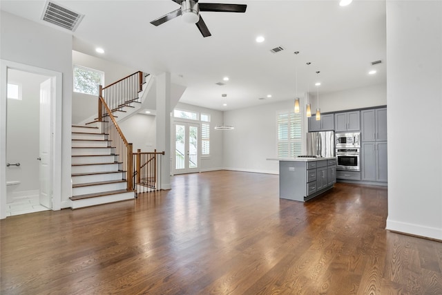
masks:
[(336, 158), (279, 160), (279, 197), (305, 202), (333, 188)]

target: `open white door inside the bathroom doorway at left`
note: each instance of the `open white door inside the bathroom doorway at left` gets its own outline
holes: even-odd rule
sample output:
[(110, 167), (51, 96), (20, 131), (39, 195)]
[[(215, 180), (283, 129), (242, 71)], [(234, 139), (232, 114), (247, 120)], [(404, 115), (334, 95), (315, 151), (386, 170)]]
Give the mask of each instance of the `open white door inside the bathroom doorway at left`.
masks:
[(47, 79), (40, 84), (40, 204), (47, 208), (52, 208), (52, 184), (50, 183), (50, 102), (51, 102), (51, 79)]

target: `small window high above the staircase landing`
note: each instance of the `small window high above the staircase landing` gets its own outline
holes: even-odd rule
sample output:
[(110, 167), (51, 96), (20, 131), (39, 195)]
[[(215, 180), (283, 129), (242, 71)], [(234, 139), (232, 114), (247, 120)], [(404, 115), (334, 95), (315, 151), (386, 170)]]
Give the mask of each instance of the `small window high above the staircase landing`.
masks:
[(74, 66), (74, 92), (98, 95), (99, 85), (104, 84), (104, 73), (100, 70)]

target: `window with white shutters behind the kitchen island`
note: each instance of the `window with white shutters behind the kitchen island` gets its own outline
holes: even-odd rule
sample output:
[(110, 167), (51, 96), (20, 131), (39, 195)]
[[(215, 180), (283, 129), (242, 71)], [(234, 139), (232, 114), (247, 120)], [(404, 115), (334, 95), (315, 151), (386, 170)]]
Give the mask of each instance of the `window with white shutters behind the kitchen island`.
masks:
[(278, 124), (278, 158), (294, 158), (302, 149), (302, 115), (282, 111), (276, 115)]

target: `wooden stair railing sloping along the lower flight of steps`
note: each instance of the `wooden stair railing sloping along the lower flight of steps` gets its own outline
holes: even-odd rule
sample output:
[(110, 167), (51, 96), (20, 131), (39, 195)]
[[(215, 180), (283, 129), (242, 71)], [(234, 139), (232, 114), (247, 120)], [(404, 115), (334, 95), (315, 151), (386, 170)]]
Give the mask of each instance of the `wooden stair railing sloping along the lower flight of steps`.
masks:
[[(100, 86), (100, 93), (102, 86)], [(113, 151), (112, 154), (118, 157), (118, 162), (122, 162), (121, 171), (123, 172), (123, 179), (127, 181), (127, 190), (133, 190), (133, 161), (132, 161), (132, 153), (133, 148), (132, 144), (128, 143), (126, 137), (119, 126), (111, 109), (108, 107), (104, 98), (99, 96), (99, 114), (102, 114), (102, 133), (107, 135), (108, 142), (111, 142)]]

